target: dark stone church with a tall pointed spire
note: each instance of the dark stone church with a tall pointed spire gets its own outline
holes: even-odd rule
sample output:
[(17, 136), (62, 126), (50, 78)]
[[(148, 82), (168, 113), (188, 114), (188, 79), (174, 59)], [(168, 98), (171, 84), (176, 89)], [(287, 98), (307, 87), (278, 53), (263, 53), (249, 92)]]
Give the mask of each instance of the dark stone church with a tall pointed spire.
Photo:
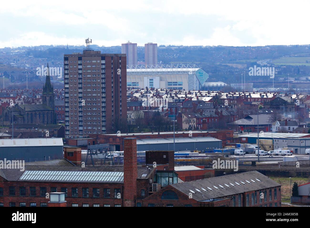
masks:
[(43, 85), (42, 104), (15, 104), (14, 106), (7, 107), (2, 112), (2, 126), (10, 126), (12, 116), (14, 123), (56, 124), (54, 87), (51, 84), (48, 64), (47, 76)]

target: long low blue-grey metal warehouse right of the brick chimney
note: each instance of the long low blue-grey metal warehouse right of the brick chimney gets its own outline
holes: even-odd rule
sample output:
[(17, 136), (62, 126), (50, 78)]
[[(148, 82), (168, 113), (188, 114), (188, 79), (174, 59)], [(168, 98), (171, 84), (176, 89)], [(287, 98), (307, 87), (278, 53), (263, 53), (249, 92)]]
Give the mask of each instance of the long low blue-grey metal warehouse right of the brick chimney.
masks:
[[(175, 151), (210, 151), (217, 148), (222, 148), (222, 141), (213, 137), (175, 138)], [(137, 151), (140, 150), (173, 150), (173, 138), (139, 139)]]

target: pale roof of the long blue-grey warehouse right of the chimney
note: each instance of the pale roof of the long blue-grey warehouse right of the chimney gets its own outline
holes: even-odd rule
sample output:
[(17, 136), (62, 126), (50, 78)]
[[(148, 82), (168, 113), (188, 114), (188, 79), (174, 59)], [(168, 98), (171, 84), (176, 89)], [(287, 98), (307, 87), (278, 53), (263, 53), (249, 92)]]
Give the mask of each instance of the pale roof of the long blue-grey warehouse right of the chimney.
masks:
[[(190, 138), (175, 138), (175, 143), (184, 142), (215, 142), (222, 141), (213, 137), (190, 137)], [(173, 143), (172, 139), (138, 139), (137, 145), (142, 144), (162, 144), (162, 143)]]

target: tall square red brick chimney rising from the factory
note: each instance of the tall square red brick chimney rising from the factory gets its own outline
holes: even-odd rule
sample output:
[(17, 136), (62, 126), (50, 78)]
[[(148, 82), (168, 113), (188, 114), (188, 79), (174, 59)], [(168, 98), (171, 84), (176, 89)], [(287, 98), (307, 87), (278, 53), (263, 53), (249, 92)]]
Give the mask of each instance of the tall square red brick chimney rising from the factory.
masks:
[(135, 206), (137, 169), (136, 138), (124, 138), (124, 207)]

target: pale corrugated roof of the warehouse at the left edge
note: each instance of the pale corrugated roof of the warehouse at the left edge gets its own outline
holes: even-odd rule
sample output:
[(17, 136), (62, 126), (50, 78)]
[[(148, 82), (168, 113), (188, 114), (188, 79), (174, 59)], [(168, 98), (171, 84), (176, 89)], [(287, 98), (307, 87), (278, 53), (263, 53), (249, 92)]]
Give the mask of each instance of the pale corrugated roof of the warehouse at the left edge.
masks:
[(62, 138), (0, 139), (1, 147), (63, 146)]

